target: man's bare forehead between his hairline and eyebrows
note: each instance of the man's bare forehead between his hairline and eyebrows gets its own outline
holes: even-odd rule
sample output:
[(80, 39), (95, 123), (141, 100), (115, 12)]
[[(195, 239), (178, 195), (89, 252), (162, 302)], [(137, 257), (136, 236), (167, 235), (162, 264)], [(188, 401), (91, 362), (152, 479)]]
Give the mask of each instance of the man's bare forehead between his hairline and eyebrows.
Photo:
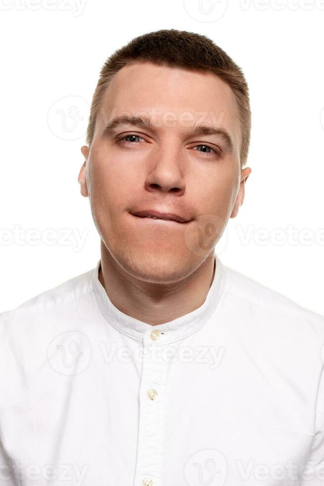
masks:
[(240, 119), (231, 88), (216, 74), (134, 62), (125, 65), (106, 89), (101, 107), (106, 119), (127, 112), (129, 115), (168, 113), (179, 117), (190, 113), (192, 120), (226, 128), (236, 140), (240, 137)]

